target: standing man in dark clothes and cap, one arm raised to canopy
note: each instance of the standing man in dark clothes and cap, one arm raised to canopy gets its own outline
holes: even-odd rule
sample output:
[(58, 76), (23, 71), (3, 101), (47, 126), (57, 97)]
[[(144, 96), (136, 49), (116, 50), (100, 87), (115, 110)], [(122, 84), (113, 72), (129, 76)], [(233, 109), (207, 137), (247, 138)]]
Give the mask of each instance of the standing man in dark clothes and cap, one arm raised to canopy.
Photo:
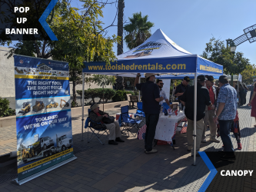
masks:
[(158, 85), (155, 84), (155, 74), (146, 73), (146, 82), (141, 84), (138, 84), (139, 77), (140, 74), (138, 73), (135, 78), (135, 86), (142, 92), (142, 109), (145, 112), (146, 118), (145, 153), (152, 154), (158, 152), (156, 149), (152, 149), (152, 142), (159, 119), (159, 102), (163, 101), (164, 98), (160, 98)]

